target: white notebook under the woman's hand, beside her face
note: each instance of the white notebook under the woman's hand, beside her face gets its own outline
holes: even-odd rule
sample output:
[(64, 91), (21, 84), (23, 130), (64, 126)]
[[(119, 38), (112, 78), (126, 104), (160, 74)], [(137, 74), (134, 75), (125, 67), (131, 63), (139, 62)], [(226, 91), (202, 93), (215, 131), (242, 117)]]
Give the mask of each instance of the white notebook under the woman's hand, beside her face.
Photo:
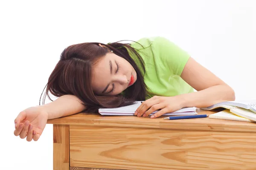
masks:
[[(135, 102), (133, 105), (123, 106), (119, 108), (100, 108), (99, 113), (101, 115), (115, 115), (115, 116), (134, 116), (136, 109), (141, 105), (141, 101)], [(165, 113), (163, 115), (195, 115), (197, 114), (195, 107), (182, 108), (172, 113)], [(157, 113), (154, 111), (150, 115)]]

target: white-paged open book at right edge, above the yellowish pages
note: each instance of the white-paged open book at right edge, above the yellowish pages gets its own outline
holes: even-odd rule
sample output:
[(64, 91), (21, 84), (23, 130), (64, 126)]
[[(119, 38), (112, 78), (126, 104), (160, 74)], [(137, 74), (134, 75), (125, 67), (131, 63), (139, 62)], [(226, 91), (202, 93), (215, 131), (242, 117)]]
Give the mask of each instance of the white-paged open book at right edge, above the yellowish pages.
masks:
[(210, 110), (213, 110), (213, 109), (216, 109), (216, 108), (224, 108), (223, 107), (224, 105), (244, 108), (244, 109), (247, 109), (247, 110), (250, 110), (250, 111), (256, 113), (256, 99), (221, 102), (221, 103), (217, 103), (215, 105), (212, 105), (208, 108), (201, 108), (201, 109), (210, 111)]

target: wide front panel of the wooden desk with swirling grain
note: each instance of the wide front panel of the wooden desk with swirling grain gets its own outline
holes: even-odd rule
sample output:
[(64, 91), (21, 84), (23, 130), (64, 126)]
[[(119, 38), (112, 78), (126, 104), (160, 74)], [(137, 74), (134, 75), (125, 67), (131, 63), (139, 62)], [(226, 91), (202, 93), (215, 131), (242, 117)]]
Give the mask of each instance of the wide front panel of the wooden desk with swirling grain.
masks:
[(256, 133), (70, 125), (71, 167), (255, 170), (255, 160)]

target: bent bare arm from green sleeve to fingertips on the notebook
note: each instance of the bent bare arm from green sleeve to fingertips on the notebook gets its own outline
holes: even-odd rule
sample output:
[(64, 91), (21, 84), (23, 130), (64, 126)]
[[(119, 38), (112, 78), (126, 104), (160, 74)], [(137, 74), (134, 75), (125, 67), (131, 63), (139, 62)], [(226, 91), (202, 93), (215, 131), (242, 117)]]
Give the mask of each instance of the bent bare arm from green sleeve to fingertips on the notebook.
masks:
[(161, 109), (151, 116), (156, 118), (185, 107), (203, 108), (218, 102), (235, 100), (233, 89), (192, 57), (189, 58), (180, 77), (196, 92), (171, 97), (154, 96), (143, 102), (135, 115), (145, 117)]

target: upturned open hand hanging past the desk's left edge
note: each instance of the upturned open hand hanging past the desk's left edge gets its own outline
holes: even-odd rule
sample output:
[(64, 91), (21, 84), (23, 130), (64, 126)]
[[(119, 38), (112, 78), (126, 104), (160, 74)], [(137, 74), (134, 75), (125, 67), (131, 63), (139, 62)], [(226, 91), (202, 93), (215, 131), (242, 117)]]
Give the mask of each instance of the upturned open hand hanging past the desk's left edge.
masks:
[(27, 108), (15, 119), (14, 135), (26, 138), (28, 142), (37, 141), (47, 123), (48, 113), (40, 107)]

